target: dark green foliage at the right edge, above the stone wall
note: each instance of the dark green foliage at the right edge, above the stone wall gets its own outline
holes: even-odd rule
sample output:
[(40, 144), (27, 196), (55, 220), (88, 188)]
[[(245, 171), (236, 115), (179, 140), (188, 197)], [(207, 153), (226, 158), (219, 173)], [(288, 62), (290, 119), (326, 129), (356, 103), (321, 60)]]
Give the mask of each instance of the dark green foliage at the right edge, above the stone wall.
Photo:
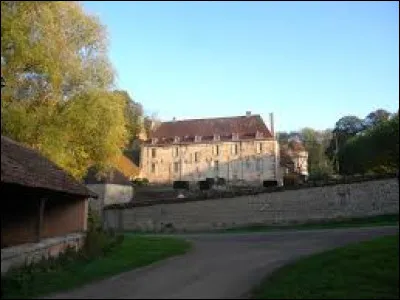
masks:
[(339, 151), (343, 174), (390, 173), (399, 168), (399, 116), (351, 138)]

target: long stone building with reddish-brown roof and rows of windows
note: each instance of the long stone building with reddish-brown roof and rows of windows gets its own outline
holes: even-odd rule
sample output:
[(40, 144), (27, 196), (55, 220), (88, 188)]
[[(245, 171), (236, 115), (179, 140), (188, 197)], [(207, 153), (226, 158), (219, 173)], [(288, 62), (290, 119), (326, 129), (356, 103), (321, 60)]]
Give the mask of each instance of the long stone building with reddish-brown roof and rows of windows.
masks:
[[(271, 115), (272, 121), (272, 115)], [(273, 123), (273, 122), (272, 122)], [(141, 176), (150, 182), (282, 182), (279, 144), (260, 115), (164, 122), (142, 145)]]

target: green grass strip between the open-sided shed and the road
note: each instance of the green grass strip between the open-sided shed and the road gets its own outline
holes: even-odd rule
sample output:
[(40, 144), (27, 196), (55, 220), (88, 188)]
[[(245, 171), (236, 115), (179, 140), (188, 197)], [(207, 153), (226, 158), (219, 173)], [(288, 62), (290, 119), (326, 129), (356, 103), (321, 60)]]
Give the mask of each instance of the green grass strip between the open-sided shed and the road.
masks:
[(50, 272), (24, 270), (10, 273), (6, 278), (2, 277), (2, 298), (32, 298), (67, 290), (170, 256), (184, 254), (190, 248), (191, 244), (183, 239), (125, 237), (122, 244), (109, 254), (89, 262), (70, 261)]

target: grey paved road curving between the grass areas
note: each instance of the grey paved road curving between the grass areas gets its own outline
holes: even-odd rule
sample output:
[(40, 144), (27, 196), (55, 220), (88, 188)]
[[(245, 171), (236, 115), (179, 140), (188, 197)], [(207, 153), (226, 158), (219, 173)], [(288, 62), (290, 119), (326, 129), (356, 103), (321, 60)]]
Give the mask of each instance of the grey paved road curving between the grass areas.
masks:
[(398, 233), (398, 227), (185, 235), (194, 250), (54, 295), (52, 299), (243, 299), (269, 272), (301, 256)]

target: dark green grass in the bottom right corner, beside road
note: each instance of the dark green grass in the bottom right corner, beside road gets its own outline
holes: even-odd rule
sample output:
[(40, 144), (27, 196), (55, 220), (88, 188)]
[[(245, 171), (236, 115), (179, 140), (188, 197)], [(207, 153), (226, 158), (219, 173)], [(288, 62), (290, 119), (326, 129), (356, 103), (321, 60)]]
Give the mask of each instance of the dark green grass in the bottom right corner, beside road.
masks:
[(301, 259), (267, 277), (253, 299), (398, 299), (399, 235)]

